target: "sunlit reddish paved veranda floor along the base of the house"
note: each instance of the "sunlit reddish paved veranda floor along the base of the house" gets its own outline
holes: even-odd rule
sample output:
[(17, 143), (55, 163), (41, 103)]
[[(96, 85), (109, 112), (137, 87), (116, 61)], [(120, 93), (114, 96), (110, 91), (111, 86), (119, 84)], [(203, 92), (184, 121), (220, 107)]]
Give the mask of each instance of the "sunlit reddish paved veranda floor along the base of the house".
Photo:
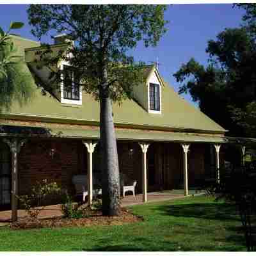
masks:
[[(191, 191), (192, 192), (192, 191)], [(193, 192), (194, 193), (194, 192)], [(190, 193), (191, 194), (191, 193)], [(127, 195), (122, 200), (122, 206), (143, 204), (142, 194), (138, 194), (135, 198), (132, 195)], [(184, 191), (182, 189), (163, 191), (163, 192), (152, 192), (147, 194), (148, 202), (158, 202), (164, 200), (173, 200), (176, 198), (184, 198)], [(11, 220), (11, 211), (0, 211), (0, 226), (8, 224)], [(48, 205), (44, 210), (40, 211), (38, 218), (52, 218), (54, 216), (61, 216), (61, 207), (58, 205)], [(18, 210), (18, 218), (24, 218), (28, 216), (25, 210)]]

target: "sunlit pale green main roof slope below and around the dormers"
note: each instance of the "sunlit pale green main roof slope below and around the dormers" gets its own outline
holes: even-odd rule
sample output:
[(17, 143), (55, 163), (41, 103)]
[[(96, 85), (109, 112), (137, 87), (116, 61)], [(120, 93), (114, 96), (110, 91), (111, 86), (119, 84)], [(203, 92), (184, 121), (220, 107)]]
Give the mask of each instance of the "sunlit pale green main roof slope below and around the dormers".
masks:
[[(151, 72), (151, 66), (145, 68), (145, 72)], [(162, 92), (161, 114), (152, 114), (145, 111), (134, 100), (124, 100), (121, 105), (113, 104), (113, 118), (116, 125), (133, 125), (147, 129), (185, 129), (195, 131), (209, 131), (223, 134), (225, 129), (216, 124), (211, 118), (204, 115), (198, 108), (182, 99), (166, 82)], [(36, 85), (35, 85), (36, 86)], [(140, 85), (143, 86), (143, 85)], [(58, 119), (67, 122), (95, 122), (99, 123), (99, 102), (83, 92), (83, 105), (75, 106), (61, 104), (58, 99), (47, 93), (42, 95), (40, 89), (36, 89), (34, 99), (27, 105), (20, 107), (13, 103), (10, 111), (3, 111), (4, 118), (38, 118), (48, 121)], [(1, 117), (1, 115), (0, 115)]]

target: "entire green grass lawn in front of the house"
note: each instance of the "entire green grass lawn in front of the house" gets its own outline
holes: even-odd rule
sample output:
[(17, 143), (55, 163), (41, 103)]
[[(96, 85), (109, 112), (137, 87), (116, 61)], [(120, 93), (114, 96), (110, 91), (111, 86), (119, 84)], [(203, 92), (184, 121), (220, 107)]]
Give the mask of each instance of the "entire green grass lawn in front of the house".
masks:
[(245, 251), (234, 207), (212, 198), (136, 205), (145, 221), (122, 226), (10, 230), (1, 251)]

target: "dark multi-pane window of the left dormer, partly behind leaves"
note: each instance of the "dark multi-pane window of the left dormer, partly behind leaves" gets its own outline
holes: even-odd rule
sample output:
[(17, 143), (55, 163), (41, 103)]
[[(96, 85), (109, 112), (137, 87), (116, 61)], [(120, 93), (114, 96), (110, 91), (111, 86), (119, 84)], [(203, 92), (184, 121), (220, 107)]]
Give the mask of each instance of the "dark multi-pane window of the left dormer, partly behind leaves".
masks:
[(77, 83), (74, 68), (63, 65), (63, 92), (64, 99), (79, 100), (79, 83)]

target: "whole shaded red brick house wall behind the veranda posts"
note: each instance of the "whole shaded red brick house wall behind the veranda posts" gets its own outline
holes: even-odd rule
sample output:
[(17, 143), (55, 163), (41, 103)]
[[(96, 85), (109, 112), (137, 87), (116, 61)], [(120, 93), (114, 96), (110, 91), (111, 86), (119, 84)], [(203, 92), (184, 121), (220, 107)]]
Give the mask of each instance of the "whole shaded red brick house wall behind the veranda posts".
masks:
[[(183, 160), (179, 143), (152, 143), (148, 154), (155, 161), (156, 189), (175, 189), (182, 184)], [(54, 157), (51, 148), (56, 149)], [(132, 150), (132, 151), (131, 151)], [(189, 185), (204, 177), (204, 144), (191, 144), (188, 155)], [(118, 142), (121, 173), (129, 180), (138, 180), (136, 192), (141, 193), (141, 148), (136, 142)], [(147, 156), (149, 157), (149, 156)], [(94, 170), (100, 170), (99, 150), (93, 154)], [(28, 193), (36, 181), (56, 181), (61, 188), (74, 193), (72, 176), (87, 172), (87, 151), (81, 140), (29, 140), (19, 154), (19, 193)], [(152, 187), (153, 188), (153, 187)]]

